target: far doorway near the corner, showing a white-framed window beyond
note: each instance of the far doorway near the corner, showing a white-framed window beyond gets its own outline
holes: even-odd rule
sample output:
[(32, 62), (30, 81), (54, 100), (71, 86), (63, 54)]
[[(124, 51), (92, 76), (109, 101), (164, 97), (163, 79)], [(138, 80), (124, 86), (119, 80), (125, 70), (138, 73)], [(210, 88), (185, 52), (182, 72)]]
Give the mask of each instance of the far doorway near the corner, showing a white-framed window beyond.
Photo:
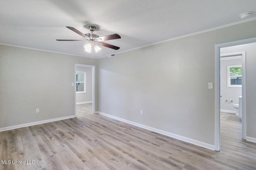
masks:
[(75, 115), (95, 113), (95, 66), (75, 64)]

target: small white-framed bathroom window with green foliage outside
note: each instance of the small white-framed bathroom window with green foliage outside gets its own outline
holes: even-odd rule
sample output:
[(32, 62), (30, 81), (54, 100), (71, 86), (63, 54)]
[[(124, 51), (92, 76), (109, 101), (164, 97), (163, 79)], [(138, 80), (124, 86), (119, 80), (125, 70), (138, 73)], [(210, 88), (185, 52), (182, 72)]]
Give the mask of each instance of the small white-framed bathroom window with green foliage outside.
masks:
[(227, 86), (242, 88), (242, 65), (228, 66), (227, 72)]

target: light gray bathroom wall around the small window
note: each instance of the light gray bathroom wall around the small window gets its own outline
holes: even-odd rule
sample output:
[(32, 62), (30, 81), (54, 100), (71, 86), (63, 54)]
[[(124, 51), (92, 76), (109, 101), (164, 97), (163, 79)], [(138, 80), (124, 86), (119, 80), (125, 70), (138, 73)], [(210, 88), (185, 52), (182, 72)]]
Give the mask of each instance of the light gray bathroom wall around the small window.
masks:
[[(236, 51), (239, 52), (239, 51)], [(220, 109), (236, 111), (232, 104), (239, 103), (239, 96), (242, 96), (242, 88), (227, 87), (227, 66), (242, 64), (242, 59), (220, 61)], [(226, 102), (233, 100), (233, 102)]]

